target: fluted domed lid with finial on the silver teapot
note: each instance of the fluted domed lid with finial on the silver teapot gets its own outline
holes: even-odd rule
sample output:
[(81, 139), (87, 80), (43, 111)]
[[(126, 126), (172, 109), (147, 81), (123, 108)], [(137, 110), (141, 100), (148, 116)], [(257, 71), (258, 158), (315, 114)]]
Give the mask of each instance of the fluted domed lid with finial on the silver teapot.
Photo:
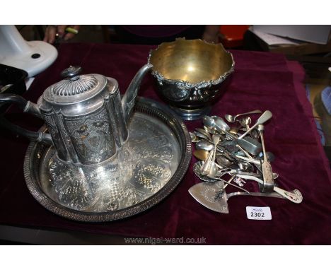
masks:
[[(105, 76), (99, 74), (79, 75), (81, 70), (81, 66), (69, 66), (68, 69), (64, 69), (61, 73), (64, 80), (48, 87), (43, 98), (52, 103), (81, 102), (97, 95), (107, 85), (108, 80)], [(115, 85), (109, 87), (111, 92), (116, 88)]]

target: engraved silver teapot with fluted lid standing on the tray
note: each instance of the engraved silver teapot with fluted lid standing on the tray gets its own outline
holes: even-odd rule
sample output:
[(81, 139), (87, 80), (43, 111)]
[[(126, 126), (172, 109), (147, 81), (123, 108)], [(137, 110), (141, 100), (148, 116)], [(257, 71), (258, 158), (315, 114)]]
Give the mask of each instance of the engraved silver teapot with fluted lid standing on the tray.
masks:
[(27, 131), (1, 117), (0, 124), (29, 139), (54, 145), (64, 162), (98, 164), (112, 158), (128, 138), (127, 122), (142, 78), (151, 69), (137, 72), (122, 100), (115, 78), (80, 75), (81, 67), (62, 71), (64, 80), (48, 87), (37, 104), (19, 95), (0, 94), (0, 103), (17, 103), (24, 112), (44, 119), (49, 134)]

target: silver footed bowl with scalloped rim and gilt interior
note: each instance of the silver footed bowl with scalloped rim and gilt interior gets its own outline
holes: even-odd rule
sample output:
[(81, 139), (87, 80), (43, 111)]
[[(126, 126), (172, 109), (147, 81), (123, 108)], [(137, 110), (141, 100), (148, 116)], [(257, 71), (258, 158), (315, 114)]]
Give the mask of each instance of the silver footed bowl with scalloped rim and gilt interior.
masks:
[(235, 64), (221, 44), (183, 38), (152, 49), (148, 62), (153, 65), (159, 95), (185, 120), (209, 113)]

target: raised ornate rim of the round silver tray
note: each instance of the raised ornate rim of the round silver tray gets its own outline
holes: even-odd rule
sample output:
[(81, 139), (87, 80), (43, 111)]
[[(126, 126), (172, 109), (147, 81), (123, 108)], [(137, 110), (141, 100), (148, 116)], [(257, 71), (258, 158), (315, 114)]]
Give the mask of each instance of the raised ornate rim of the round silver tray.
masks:
[[(129, 216), (137, 215), (147, 209), (150, 209), (152, 206), (158, 204), (160, 201), (165, 199), (175, 187), (178, 186), (182, 178), (184, 177), (187, 169), (190, 166), (190, 160), (192, 157), (192, 145), (190, 141), (190, 134), (187, 131), (187, 127), (185, 124), (178, 118), (175, 117), (174, 112), (172, 112), (165, 105), (155, 101), (150, 100), (148, 98), (138, 97), (136, 100), (135, 109), (140, 106), (139, 112), (144, 113), (144, 110), (153, 111), (158, 118), (161, 118), (161, 121), (168, 121), (165, 124), (168, 124), (168, 127), (172, 129), (178, 139), (178, 143), (182, 147), (182, 158), (178, 165), (178, 169), (175, 171), (173, 177), (165, 184), (165, 186), (160, 189), (156, 194), (153, 194), (148, 199), (141, 201), (139, 204), (135, 204), (134, 206), (129, 206), (126, 209), (120, 209), (117, 211), (111, 212), (103, 212), (103, 213), (91, 213), (91, 212), (82, 212), (74, 209), (66, 208), (58, 204), (56, 201), (50, 199), (45, 192), (42, 191), (40, 185), (37, 184), (37, 180), (33, 177), (33, 173), (31, 172), (31, 163), (33, 162), (33, 155), (37, 146), (42, 143), (37, 143), (35, 141), (31, 142), (28, 146), (28, 149), (25, 153), (24, 159), (24, 177), (25, 182), (28, 186), (30, 193), (33, 197), (47, 210), (52, 213), (56, 213), (59, 216), (64, 218), (69, 218), (74, 221), (85, 221), (85, 222), (105, 222), (105, 221), (115, 221), (123, 218), (128, 218)], [(145, 112), (146, 113), (146, 112)], [(162, 119), (163, 118), (163, 119)], [(40, 131), (45, 131), (46, 127), (42, 126)], [(182, 134), (178, 134), (181, 132)]]

